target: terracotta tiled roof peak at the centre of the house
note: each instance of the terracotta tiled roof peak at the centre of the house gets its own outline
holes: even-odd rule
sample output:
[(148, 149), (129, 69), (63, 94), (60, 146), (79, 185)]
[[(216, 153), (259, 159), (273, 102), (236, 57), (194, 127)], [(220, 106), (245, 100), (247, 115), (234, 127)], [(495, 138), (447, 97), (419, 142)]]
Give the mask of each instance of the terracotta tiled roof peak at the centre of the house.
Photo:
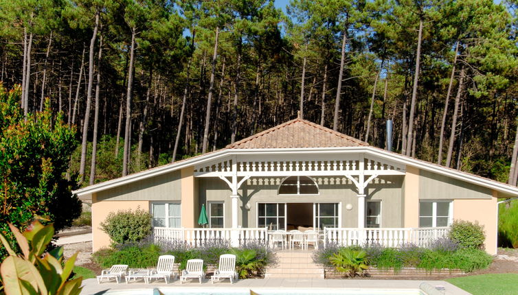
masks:
[(359, 147), (368, 143), (304, 119), (293, 119), (230, 145), (229, 149)]

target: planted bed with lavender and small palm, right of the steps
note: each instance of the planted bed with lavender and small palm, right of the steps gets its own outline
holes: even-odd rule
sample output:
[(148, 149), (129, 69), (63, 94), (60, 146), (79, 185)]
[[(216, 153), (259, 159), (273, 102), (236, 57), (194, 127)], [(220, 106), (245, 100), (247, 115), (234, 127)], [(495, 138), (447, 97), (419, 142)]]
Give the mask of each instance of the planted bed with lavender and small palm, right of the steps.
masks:
[(438, 239), (429, 248), (412, 244), (400, 248), (339, 247), (328, 245), (315, 252), (313, 261), (326, 270), (326, 277), (355, 275), (462, 274), (487, 268), (493, 258), (484, 250), (462, 248), (450, 239)]

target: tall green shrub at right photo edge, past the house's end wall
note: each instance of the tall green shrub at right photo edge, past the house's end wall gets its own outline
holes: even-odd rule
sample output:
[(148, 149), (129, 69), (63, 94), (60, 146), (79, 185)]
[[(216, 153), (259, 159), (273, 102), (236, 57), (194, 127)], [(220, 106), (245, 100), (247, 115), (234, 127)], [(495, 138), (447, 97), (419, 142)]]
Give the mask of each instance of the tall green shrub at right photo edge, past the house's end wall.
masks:
[(518, 248), (518, 200), (499, 204), (498, 243)]

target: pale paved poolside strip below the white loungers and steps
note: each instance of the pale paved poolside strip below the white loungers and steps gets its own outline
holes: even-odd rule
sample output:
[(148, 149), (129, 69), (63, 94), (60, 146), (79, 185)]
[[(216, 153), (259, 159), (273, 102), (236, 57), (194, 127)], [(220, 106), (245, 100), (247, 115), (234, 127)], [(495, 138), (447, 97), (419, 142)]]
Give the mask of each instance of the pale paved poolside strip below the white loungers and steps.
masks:
[[(445, 281), (403, 281), (403, 280), (352, 280), (352, 279), (280, 279), (280, 278), (272, 278), (272, 279), (247, 279), (247, 280), (239, 280), (234, 284), (228, 283), (228, 281), (222, 281), (221, 283), (210, 283), (210, 280), (205, 279), (203, 283), (199, 284), (197, 281), (188, 282), (180, 284), (179, 280), (175, 280), (172, 283), (164, 283), (161, 281), (153, 282), (149, 285), (145, 283), (97, 283), (96, 279), (87, 279), (83, 282), (83, 289), (81, 295), (91, 295), (91, 294), (104, 294), (107, 291), (117, 291), (117, 290), (135, 290), (135, 289), (153, 289), (158, 287), (160, 289), (168, 289), (168, 290), (180, 290), (185, 288), (192, 289), (207, 289), (211, 290), (214, 288), (217, 289), (234, 289), (234, 288), (243, 288), (243, 289), (252, 289), (256, 292), (259, 292), (261, 289), (276, 289), (282, 290), (286, 289), (301, 289), (308, 290), (311, 288), (331, 288), (334, 290), (340, 289), (350, 289), (350, 290), (365, 290), (365, 289), (378, 289), (378, 290), (387, 290), (391, 289), (403, 289), (403, 290), (419, 290), (419, 285), (421, 283), (429, 283), (433, 286), (442, 286), (445, 288), (445, 295), (470, 295), (468, 292), (461, 290), (450, 283)], [(143, 293), (144, 294), (144, 293)]]

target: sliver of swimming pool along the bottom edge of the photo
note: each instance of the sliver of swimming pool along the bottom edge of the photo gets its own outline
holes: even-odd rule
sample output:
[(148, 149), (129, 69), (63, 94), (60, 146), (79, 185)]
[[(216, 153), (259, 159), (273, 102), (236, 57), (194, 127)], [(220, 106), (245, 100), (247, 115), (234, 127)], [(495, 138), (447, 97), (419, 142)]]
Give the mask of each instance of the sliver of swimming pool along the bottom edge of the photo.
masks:
[(106, 292), (106, 295), (250, 295), (250, 290), (258, 295), (427, 295), (421, 290), (359, 290), (359, 289), (337, 289), (337, 288), (174, 288), (163, 287), (159, 289), (140, 289), (140, 290), (117, 290)]

